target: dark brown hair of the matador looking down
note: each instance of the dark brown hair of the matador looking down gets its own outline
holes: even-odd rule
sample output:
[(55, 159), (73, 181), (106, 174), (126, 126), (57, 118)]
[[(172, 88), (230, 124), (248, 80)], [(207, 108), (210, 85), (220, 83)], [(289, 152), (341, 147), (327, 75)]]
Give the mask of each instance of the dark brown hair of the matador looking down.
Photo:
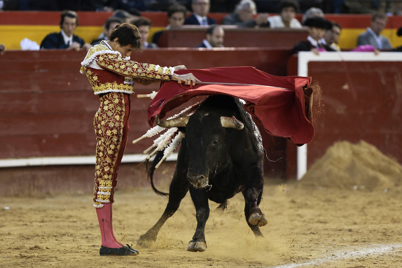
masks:
[(129, 23), (122, 23), (117, 25), (112, 31), (109, 40), (114, 41), (115, 38), (119, 39), (119, 44), (124, 47), (126, 45), (132, 45), (136, 50), (142, 51), (141, 35), (139, 35), (137, 27)]

